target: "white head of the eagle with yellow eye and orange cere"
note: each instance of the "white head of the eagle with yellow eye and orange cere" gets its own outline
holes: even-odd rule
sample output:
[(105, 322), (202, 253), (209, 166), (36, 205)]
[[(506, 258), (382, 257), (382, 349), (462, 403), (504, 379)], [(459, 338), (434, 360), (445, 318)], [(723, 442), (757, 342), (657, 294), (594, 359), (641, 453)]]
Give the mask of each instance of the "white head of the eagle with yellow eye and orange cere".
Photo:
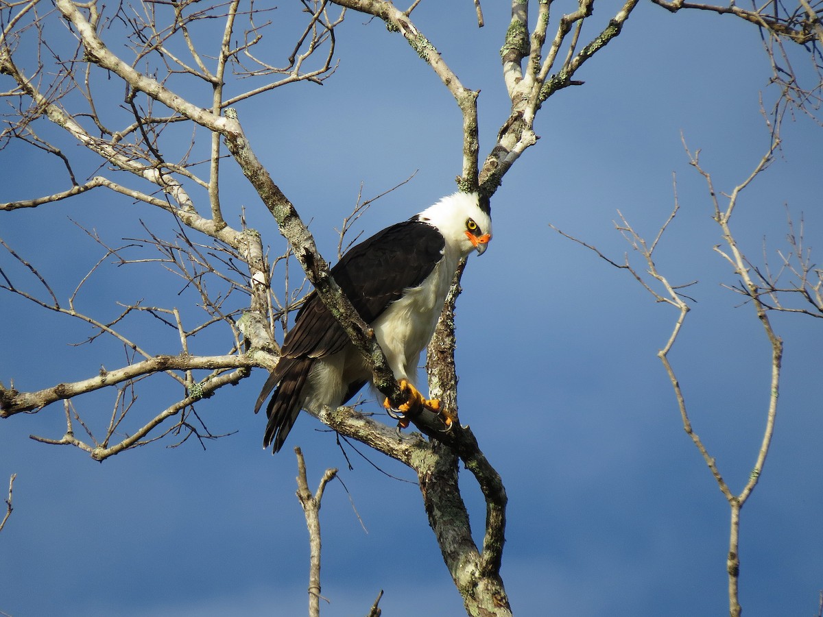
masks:
[(462, 257), (472, 251), (482, 254), (491, 240), (491, 208), (477, 193), (454, 193), (443, 197), (415, 217), (434, 225), (446, 243)]

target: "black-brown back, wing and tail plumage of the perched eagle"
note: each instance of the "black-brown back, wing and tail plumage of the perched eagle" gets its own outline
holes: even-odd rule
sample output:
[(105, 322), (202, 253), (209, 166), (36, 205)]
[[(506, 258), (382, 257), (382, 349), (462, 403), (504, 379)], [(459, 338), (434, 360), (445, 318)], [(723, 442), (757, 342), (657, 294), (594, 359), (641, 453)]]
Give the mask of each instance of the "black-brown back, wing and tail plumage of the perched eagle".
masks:
[[(346, 253), (332, 276), (357, 313), (374, 322), (385, 308), (400, 299), (403, 290), (425, 281), (443, 257), (445, 241), (435, 227), (407, 220), (374, 234)], [(349, 337), (313, 291), (297, 313), (295, 326), (286, 334), (277, 368), (263, 385), (254, 413), (280, 383), (266, 409), (268, 424), (263, 447), (274, 442), (277, 452), (294, 425), (303, 404), (301, 391), (313, 360), (345, 349)], [(348, 384), (347, 399), (364, 384)], [(340, 401), (337, 404), (342, 404)]]

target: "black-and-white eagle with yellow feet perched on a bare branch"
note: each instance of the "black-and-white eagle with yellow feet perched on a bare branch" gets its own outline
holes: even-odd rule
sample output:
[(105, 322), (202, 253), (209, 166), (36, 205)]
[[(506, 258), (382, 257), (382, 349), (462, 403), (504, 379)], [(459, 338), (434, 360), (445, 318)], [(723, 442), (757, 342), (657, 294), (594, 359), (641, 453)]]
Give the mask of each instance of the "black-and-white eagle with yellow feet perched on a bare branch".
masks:
[[(439, 410), (417, 392), (417, 365), (435, 332), (458, 262), (486, 251), (491, 239), (489, 200), (476, 193), (443, 197), (411, 219), (357, 244), (332, 267), (332, 276), (363, 321), (374, 328), (408, 410)], [(266, 407), (263, 448), (277, 452), (301, 409), (344, 405), (370, 383), (360, 350), (313, 291), (286, 334), (281, 358), (260, 392), (254, 413)], [(388, 407), (388, 399), (385, 406)], [(448, 420), (448, 419), (447, 419)]]

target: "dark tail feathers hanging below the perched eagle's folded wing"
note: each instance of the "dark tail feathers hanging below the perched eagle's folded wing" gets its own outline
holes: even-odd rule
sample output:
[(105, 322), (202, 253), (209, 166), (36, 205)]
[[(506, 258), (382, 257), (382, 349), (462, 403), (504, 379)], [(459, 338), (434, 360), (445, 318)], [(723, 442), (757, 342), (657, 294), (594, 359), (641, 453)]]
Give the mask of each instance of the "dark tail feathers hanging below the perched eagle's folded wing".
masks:
[(266, 407), (268, 424), (266, 424), (266, 433), (263, 435), (263, 448), (268, 448), (273, 444), (272, 453), (279, 452), (283, 447), (291, 427), (295, 425), (297, 416), (300, 415), (300, 408), (303, 406), (301, 394), (313, 361), (309, 358), (297, 361), (282, 376), (278, 374), (278, 371), (272, 373), (266, 380), (263, 391), (260, 392), (254, 408), (255, 412), (266, 400), (272, 388), (280, 382), (280, 387), (277, 387), (272, 400), (268, 401)]

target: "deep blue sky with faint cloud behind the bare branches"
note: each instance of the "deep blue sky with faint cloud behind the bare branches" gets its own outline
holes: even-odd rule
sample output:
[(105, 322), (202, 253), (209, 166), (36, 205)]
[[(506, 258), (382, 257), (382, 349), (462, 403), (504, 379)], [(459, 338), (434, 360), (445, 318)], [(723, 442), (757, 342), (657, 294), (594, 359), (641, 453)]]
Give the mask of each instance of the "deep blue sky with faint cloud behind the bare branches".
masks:
[[(488, 2), (484, 12), (482, 30), (472, 26), (470, 2), (445, 17), (435, 3), (414, 13), (463, 84), (481, 90), (481, 155), (509, 113), (498, 54), (508, 12)], [(288, 7), (271, 17), (292, 27)], [(323, 86), (298, 84), (238, 105), (258, 156), (313, 221), (328, 258), (361, 183), (372, 196), (417, 172), (360, 219), (370, 234), (453, 192), (460, 171), (451, 96), (402, 39), (366, 22), (348, 16), (337, 35), (340, 66)], [(810, 74), (800, 60), (795, 68)], [(653, 237), (672, 209), (677, 174), (681, 212), (658, 267), (674, 283), (699, 283), (672, 363), (695, 432), (739, 491), (765, 424), (769, 347), (751, 307), (721, 287), (735, 277), (712, 249), (722, 239), (681, 132), (702, 150), (718, 189), (745, 179), (768, 146), (758, 104), (760, 93), (774, 95), (768, 61), (757, 31), (728, 16), (672, 16), (643, 5), (577, 77), (584, 86), (543, 106), (541, 140), (495, 195), (494, 239), (472, 257), (458, 303), (460, 417), (509, 494), (504, 582), (516, 615), (722, 615), (728, 506), (683, 432), (656, 357), (677, 315), (549, 224), (621, 259), (630, 248), (613, 229), (616, 211)], [(802, 115), (786, 123), (781, 155), (744, 194), (732, 227), (752, 259), (764, 238), (775, 262), (775, 251), (785, 249), (786, 206), (795, 220), (803, 214), (807, 245), (820, 247), (820, 130)], [(44, 174), (47, 160), (32, 148), (12, 146), (0, 160), (0, 201), (66, 187), (59, 169)], [(221, 189), (226, 211), (236, 223), (244, 206), (276, 254), (283, 239), (231, 165)], [(101, 257), (70, 219), (110, 244), (145, 237), (140, 220), (169, 237), (173, 229), (169, 216), (107, 193), (0, 216), (0, 236), (61, 299)], [(0, 267), (22, 276), (7, 255)], [(95, 281), (80, 302), (108, 316), (121, 310), (118, 300), (168, 304), (182, 286), (147, 266), (110, 267)], [(7, 294), (0, 309), (6, 385), (13, 378), (21, 390), (48, 387), (125, 361), (108, 341), (67, 345), (89, 335), (79, 322)], [(770, 457), (742, 511), (741, 601), (746, 615), (810, 615), (823, 587), (823, 335), (812, 318), (778, 315), (774, 323), (786, 344), (782, 392)], [(131, 327), (145, 329), (152, 353), (178, 353), (177, 338), (156, 325), (146, 317)], [(230, 341), (197, 345), (200, 353), (221, 353)], [(12, 473), (17, 480), (15, 511), (0, 534), (0, 610), (13, 617), (304, 614), (308, 543), (294, 456), (291, 448), (277, 457), (263, 452), (264, 420), (252, 414), (264, 378), (255, 371), (198, 406), (212, 432), (236, 431), (205, 451), (192, 441), (174, 449), (156, 443), (98, 464), (77, 449), (28, 438), (60, 437), (62, 406), (2, 421), (0, 480)], [(141, 418), (179, 396), (143, 385)], [(98, 392), (76, 404), (105, 422), (113, 401), (113, 392)], [(346, 470), (322, 428), (305, 415), (287, 445), (303, 448), (309, 485), (338, 466), (347, 489), (335, 482), (323, 499), (323, 596), (331, 601), (323, 615), (363, 615), (380, 589), (385, 615), (460, 615), (416, 485), (375, 471), (356, 453), (349, 453), (355, 469)], [(402, 466), (370, 458), (413, 480)], [(464, 476), (478, 534), (483, 505)]]

